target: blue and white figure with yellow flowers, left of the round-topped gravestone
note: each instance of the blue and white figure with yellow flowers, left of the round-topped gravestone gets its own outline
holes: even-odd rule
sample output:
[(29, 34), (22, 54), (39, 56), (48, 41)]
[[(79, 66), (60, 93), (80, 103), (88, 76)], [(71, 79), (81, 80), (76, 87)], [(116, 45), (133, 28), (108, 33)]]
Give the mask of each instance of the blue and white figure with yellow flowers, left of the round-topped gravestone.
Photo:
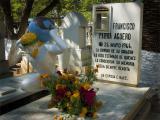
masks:
[[(52, 19), (37, 17), (29, 23), (27, 32), (17, 41), (17, 46), (29, 53), (29, 61), (40, 74), (55, 74), (55, 64), (58, 63), (58, 54), (67, 49), (65, 41), (58, 36)], [(23, 81), (22, 86), (27, 90), (39, 86), (38, 76)], [(32, 82), (36, 82), (32, 85)]]

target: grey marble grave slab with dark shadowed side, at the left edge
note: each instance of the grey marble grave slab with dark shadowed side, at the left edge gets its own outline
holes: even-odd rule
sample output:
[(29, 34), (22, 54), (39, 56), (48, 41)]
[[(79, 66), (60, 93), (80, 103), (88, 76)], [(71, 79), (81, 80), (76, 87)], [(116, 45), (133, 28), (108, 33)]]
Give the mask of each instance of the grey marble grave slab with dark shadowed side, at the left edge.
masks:
[(48, 95), (48, 90), (39, 87), (38, 77), (30, 73), (0, 79), (0, 115)]

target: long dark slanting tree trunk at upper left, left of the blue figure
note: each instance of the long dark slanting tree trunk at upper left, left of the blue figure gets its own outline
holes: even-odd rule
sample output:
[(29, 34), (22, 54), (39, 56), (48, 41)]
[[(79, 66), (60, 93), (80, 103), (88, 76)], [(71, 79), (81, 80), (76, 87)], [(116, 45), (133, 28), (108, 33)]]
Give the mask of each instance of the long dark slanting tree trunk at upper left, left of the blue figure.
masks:
[(18, 38), (21, 37), (22, 34), (24, 34), (24, 32), (26, 31), (26, 28), (28, 25), (28, 18), (30, 16), (30, 13), (32, 10), (33, 2), (34, 2), (34, 0), (26, 0), (26, 5), (25, 5), (25, 8), (22, 12), (22, 17), (21, 17), (21, 21), (20, 21), (20, 25), (19, 25), (18, 34), (17, 34)]

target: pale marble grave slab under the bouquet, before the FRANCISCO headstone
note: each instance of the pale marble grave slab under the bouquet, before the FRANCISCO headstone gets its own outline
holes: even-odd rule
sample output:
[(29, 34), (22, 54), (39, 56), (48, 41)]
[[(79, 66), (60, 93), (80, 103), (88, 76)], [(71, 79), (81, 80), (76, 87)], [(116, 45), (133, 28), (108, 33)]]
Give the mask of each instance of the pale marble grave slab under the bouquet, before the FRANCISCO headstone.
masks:
[[(140, 105), (150, 89), (101, 82), (96, 82), (94, 87), (99, 88), (97, 98), (103, 102), (98, 120), (131, 120), (128, 115), (136, 112), (135, 106)], [(49, 100), (50, 96), (43, 97), (0, 116), (0, 120), (53, 120), (60, 111), (57, 108), (47, 109)]]

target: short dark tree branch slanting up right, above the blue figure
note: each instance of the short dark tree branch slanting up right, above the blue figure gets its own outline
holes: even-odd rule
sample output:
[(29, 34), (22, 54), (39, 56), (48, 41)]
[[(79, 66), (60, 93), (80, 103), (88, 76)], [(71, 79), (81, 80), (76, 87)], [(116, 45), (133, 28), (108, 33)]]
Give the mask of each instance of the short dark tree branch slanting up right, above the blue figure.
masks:
[(42, 11), (40, 11), (37, 14), (37, 16), (46, 15), (49, 11), (51, 11), (59, 3), (60, 3), (60, 0), (52, 0), (52, 2), (48, 6), (46, 6)]

